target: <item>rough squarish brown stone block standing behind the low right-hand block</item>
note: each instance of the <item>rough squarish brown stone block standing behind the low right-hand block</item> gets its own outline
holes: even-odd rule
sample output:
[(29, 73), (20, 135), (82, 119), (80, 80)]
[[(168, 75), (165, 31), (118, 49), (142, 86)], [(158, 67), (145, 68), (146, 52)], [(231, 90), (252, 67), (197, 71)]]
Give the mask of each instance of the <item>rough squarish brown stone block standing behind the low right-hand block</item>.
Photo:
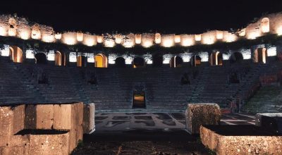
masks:
[(191, 134), (199, 134), (201, 125), (219, 125), (221, 111), (218, 104), (188, 104), (186, 128)]

